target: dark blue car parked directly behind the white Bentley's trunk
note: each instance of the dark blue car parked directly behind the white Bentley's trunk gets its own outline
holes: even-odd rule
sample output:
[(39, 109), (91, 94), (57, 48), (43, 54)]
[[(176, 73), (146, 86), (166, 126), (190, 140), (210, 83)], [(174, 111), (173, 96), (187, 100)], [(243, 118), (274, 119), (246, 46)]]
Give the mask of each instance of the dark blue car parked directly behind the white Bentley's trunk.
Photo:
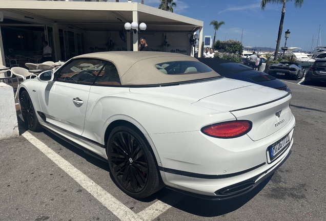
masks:
[(264, 72), (255, 71), (247, 65), (220, 58), (198, 58), (198, 60), (226, 78), (248, 81), (282, 91), (290, 91), (286, 83)]

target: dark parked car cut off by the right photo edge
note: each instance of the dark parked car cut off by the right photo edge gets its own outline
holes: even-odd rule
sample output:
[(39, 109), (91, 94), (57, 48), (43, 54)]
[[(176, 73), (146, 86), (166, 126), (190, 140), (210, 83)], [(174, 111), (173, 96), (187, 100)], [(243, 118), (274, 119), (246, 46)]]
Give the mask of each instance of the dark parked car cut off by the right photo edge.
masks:
[(305, 73), (304, 83), (326, 82), (326, 58), (316, 60)]

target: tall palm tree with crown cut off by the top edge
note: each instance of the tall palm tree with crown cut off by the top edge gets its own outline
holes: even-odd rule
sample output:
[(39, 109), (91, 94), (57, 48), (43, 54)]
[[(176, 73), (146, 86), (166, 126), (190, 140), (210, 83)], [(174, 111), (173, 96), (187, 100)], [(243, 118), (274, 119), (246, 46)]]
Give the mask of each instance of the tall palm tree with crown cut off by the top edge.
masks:
[[(277, 60), (277, 56), (278, 56), (278, 48), (279, 48), (279, 44), (280, 44), (281, 36), (282, 36), (282, 29), (283, 29), (283, 21), (284, 21), (284, 15), (285, 15), (286, 2), (290, 2), (290, 1), (292, 2), (292, 0), (261, 0), (261, 3), (260, 3), (261, 10), (265, 9), (267, 3), (283, 4), (282, 13), (281, 13), (281, 20), (280, 20), (279, 28), (278, 28), (278, 35), (277, 35), (277, 41), (276, 41), (276, 49), (275, 49), (274, 60)], [(294, 0), (294, 7), (301, 8), (302, 4), (303, 4), (303, 0)]]

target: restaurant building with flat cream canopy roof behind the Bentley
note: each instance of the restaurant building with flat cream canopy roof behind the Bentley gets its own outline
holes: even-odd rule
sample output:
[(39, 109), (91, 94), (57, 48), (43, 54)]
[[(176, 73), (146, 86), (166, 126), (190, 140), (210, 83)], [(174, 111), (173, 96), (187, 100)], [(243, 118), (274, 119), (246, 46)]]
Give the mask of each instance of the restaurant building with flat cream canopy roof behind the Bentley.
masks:
[[(195, 32), (202, 38), (202, 21), (139, 3), (2, 0), (0, 12), (4, 65), (9, 49), (27, 60), (42, 54), (44, 40), (53, 61), (66, 61), (84, 53), (136, 51), (140, 37), (154, 51), (193, 56), (190, 38)], [(133, 22), (145, 23), (146, 30), (126, 30), (125, 24)]]

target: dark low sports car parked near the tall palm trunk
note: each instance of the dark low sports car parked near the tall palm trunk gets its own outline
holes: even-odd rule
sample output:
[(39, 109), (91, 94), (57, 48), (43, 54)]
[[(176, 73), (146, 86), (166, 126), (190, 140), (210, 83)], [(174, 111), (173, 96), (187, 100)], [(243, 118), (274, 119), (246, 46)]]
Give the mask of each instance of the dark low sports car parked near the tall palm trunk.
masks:
[(278, 64), (273, 64), (268, 70), (268, 74), (277, 77), (289, 77), (298, 80), (304, 75), (304, 68), (296, 62), (282, 61)]

